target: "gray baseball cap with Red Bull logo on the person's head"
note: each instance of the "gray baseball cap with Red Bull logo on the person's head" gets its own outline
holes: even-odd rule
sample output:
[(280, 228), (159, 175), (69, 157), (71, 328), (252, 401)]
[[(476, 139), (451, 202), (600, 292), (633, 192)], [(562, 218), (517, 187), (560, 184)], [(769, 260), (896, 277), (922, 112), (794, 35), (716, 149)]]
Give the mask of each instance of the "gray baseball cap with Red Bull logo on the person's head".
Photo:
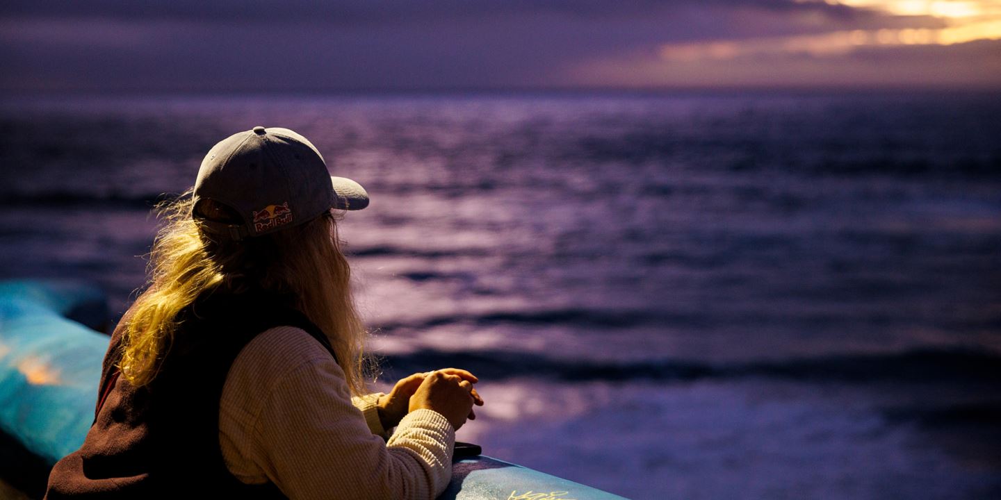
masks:
[(305, 137), (277, 127), (254, 127), (212, 147), (198, 169), (192, 207), (212, 199), (242, 223), (198, 217), (201, 227), (234, 240), (310, 221), (331, 208), (361, 210), (368, 193), (357, 182), (333, 177)]

